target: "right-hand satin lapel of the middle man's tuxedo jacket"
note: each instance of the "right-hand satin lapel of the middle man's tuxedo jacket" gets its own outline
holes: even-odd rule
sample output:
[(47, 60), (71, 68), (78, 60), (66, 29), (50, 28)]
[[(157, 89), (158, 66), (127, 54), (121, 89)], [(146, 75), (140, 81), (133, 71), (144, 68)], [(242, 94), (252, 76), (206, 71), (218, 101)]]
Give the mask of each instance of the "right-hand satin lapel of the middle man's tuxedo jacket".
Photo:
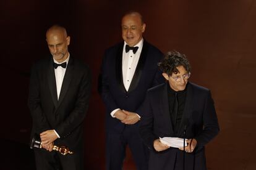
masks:
[(132, 77), (132, 82), (130, 83), (130, 87), (128, 89), (128, 92), (133, 91), (137, 87), (137, 85), (139, 84), (140, 77), (142, 76), (143, 67), (144, 67), (144, 64), (145, 64), (146, 59), (147, 59), (147, 54), (148, 54), (148, 43), (147, 43), (147, 41), (144, 40), (143, 41), (142, 52), (140, 54), (140, 59), (139, 59), (139, 62), (137, 64), (137, 67), (135, 69), (134, 76)]

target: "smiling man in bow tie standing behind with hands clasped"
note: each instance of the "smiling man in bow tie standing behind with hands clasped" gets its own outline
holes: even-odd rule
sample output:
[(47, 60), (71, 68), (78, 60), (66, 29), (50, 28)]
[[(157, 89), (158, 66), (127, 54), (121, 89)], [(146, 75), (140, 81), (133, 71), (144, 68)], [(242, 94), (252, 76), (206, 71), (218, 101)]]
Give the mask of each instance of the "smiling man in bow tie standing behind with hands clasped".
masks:
[(148, 148), (139, 136), (140, 110), (147, 89), (163, 83), (159, 49), (143, 39), (139, 12), (122, 17), (122, 39), (105, 51), (100, 88), (106, 105), (106, 169), (122, 169), (128, 145), (137, 169), (148, 169)]

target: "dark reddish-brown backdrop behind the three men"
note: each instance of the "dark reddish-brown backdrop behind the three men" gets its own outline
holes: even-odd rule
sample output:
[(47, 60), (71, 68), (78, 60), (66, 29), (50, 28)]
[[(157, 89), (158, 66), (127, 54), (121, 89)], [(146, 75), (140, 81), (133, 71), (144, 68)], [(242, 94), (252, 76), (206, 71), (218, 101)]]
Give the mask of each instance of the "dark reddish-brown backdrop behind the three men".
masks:
[[(176, 49), (192, 65), (190, 81), (211, 89), (221, 127), (207, 145), (208, 169), (256, 169), (256, 1), (2, 0), (0, 169), (35, 169), (29, 148), (30, 68), (49, 55), (47, 28), (66, 26), (70, 54), (93, 73), (85, 119), (85, 167), (105, 168), (105, 108), (97, 92), (103, 52), (121, 41), (121, 17), (138, 10), (144, 38), (164, 53)], [(135, 169), (127, 150), (124, 169)]]

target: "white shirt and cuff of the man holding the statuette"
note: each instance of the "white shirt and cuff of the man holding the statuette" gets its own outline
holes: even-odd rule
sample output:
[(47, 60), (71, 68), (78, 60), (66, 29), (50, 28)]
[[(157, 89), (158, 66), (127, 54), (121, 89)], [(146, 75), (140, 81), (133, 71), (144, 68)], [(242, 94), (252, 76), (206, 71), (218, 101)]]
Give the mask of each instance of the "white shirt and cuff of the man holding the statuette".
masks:
[[(55, 59), (53, 59), (53, 62), (58, 63), (58, 64), (61, 64), (61, 63), (64, 63), (64, 62), (69, 63), (69, 56), (67, 57), (67, 59), (64, 62), (59, 63)], [(63, 68), (63, 67), (59, 66), (57, 68), (54, 68), (58, 100), (59, 100), (59, 94), (61, 93), (61, 86), (62, 86), (62, 83), (63, 83), (63, 79), (64, 79), (64, 76), (65, 76), (66, 70), (67, 70), (67, 67)], [(54, 132), (56, 133), (58, 138), (60, 138), (59, 134), (55, 130), (54, 130)]]

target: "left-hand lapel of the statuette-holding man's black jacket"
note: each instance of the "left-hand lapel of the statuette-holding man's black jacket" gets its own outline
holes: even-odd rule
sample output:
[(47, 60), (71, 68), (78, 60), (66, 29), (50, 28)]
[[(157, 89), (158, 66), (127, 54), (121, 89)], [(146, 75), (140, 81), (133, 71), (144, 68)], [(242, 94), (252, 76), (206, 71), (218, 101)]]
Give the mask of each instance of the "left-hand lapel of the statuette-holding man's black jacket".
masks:
[(57, 98), (55, 73), (53, 68), (53, 59), (49, 60), (49, 69), (47, 73), (47, 78), (48, 78), (49, 91), (51, 92), (51, 97), (53, 99), (53, 103), (56, 108), (58, 105), (58, 98)]

